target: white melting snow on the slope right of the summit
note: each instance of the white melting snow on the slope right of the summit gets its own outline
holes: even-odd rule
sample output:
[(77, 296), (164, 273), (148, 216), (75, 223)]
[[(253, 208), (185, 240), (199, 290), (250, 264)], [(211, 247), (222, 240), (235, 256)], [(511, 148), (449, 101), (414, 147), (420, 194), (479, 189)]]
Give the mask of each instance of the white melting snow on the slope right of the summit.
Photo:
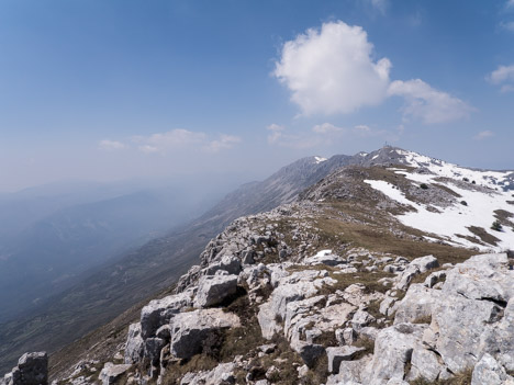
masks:
[[(404, 170), (395, 170), (396, 173), (404, 174), (409, 180), (415, 182), (416, 185), (418, 183), (431, 182), (444, 184), (462, 196), (457, 199), (457, 203), (448, 207), (437, 206), (437, 210), (442, 213), (434, 213), (428, 211), (424, 204), (407, 200), (406, 196), (391, 183), (386, 181), (366, 180), (366, 183), (370, 184), (373, 189), (381, 191), (390, 199), (399, 203), (413, 206), (416, 210), (416, 212), (398, 215), (396, 218), (402, 224), (426, 233), (438, 235), (446, 239), (446, 241), (454, 245), (478, 247), (481, 250), (492, 249), (502, 251), (505, 249), (514, 249), (513, 228), (504, 226), (502, 231), (491, 229), (491, 225), (496, 220), (494, 217), (494, 211), (504, 210), (510, 213), (514, 212), (514, 206), (507, 203), (507, 201), (513, 201), (513, 197), (511, 196), (512, 191), (504, 192), (502, 189), (499, 189), (500, 191), (496, 190), (496, 183), (499, 183), (499, 181), (503, 181), (507, 174), (512, 173), (512, 171), (500, 172), (470, 170), (440, 160), (434, 160), (415, 152), (401, 152), (402, 155), (407, 156), (407, 160), (411, 166), (427, 168), (433, 173), (410, 173)], [(447, 177), (457, 180), (468, 178), (470, 182), (476, 180), (477, 184), (488, 186), (491, 190), (488, 192), (466, 190), (458, 188), (450, 182), (446, 183), (434, 181), (434, 179), (439, 177)], [(466, 201), (467, 205), (462, 205), (460, 203), (461, 201)], [(461, 235), (478, 238), (468, 229), (470, 226), (481, 227), (490, 235), (499, 238), (500, 241), (498, 242), (498, 246), (481, 246), (457, 236)]]

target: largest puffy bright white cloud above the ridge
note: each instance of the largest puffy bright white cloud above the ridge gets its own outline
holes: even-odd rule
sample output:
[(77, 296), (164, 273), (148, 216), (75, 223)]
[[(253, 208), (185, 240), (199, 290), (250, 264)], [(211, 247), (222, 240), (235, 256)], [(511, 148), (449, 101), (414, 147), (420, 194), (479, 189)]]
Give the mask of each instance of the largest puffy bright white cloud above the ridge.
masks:
[(387, 95), (391, 63), (375, 61), (372, 50), (360, 26), (324, 23), (286, 42), (273, 75), (303, 114), (350, 113)]

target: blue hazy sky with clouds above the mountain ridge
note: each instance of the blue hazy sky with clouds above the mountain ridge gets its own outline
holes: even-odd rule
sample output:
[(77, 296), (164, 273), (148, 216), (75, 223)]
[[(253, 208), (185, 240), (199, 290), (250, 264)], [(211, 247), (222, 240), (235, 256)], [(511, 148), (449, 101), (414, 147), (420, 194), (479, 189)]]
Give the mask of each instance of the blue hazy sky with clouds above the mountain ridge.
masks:
[(0, 192), (384, 144), (514, 169), (514, 0), (0, 2)]

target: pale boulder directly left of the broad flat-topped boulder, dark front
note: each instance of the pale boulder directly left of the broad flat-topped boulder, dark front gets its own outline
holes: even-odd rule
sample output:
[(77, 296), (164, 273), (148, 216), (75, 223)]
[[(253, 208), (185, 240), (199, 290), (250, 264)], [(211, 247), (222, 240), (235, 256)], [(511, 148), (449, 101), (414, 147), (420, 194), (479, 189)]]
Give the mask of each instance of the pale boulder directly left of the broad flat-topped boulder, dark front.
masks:
[(154, 337), (159, 327), (169, 324), (176, 314), (190, 306), (192, 306), (190, 292), (150, 301), (141, 310), (141, 337), (144, 340), (148, 337)]

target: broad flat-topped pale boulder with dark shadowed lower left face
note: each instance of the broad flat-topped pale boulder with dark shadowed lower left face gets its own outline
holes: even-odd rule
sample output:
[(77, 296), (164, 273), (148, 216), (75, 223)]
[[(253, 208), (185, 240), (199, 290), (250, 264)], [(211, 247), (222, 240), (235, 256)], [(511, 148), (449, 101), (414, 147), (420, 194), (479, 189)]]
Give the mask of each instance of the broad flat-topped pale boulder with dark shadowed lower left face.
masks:
[(179, 359), (190, 359), (202, 351), (202, 343), (211, 333), (241, 324), (235, 314), (211, 308), (180, 313), (170, 326), (170, 352)]

